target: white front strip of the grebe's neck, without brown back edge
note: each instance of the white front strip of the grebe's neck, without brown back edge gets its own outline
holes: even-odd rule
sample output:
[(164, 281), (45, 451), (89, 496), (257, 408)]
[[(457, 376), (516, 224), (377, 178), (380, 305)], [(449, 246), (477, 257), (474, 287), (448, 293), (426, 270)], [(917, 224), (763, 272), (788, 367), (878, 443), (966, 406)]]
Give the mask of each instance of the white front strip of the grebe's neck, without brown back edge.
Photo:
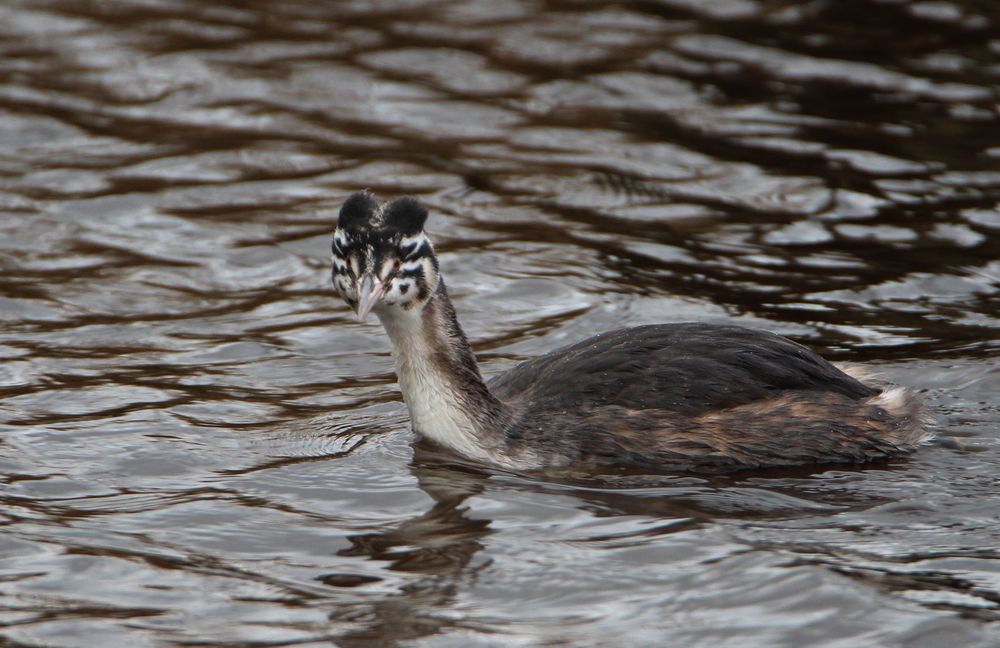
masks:
[[(423, 310), (392, 307), (376, 310), (392, 342), (396, 377), (413, 429), (465, 456), (491, 459), (479, 442), (475, 419), (462, 407), (462, 393), (454, 377), (442, 364), (440, 349), (435, 345), (439, 329), (428, 330), (433, 320), (428, 322)], [(437, 313), (428, 315), (433, 317)]]

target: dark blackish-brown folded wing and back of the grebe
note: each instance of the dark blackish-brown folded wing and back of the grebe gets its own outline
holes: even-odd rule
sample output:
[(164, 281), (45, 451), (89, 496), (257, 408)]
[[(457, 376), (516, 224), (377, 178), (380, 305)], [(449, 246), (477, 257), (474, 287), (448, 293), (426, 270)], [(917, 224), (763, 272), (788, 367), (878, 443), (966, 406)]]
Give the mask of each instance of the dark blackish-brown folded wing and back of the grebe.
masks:
[(493, 379), (490, 389), (538, 412), (618, 406), (685, 417), (788, 391), (855, 400), (877, 393), (791, 340), (707, 324), (604, 333), (520, 364)]

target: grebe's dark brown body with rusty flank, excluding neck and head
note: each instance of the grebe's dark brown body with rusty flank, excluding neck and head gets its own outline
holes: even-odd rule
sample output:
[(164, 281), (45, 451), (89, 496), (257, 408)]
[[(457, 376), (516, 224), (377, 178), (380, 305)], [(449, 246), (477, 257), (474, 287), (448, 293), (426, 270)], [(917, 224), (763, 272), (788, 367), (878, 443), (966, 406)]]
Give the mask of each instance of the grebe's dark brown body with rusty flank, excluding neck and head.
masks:
[(923, 434), (905, 391), (866, 385), (786, 338), (736, 326), (611, 331), (525, 362), (489, 387), (521, 403), (511, 445), (558, 443), (551, 454), (564, 464), (853, 463), (900, 454)]

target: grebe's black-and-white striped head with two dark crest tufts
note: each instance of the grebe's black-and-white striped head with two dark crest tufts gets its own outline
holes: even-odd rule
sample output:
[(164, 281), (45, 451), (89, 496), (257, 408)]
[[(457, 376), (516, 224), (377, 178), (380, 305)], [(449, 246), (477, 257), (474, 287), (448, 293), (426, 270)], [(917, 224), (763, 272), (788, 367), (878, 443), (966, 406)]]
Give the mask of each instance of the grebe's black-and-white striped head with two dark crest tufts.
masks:
[(437, 288), (438, 262), (414, 198), (379, 204), (367, 192), (340, 208), (333, 233), (333, 285), (362, 320), (369, 312), (422, 307)]

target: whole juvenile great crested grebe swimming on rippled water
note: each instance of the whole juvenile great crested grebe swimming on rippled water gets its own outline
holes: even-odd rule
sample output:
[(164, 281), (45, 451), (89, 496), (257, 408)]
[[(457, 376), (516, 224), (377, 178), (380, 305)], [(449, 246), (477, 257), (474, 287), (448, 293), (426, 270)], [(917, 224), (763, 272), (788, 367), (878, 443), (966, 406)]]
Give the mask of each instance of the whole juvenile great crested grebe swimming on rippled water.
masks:
[(412, 198), (352, 195), (333, 236), (333, 284), (361, 319), (382, 321), (414, 430), (466, 457), (524, 470), (727, 470), (893, 457), (929, 436), (906, 390), (736, 326), (602, 333), (486, 383), (426, 219)]

